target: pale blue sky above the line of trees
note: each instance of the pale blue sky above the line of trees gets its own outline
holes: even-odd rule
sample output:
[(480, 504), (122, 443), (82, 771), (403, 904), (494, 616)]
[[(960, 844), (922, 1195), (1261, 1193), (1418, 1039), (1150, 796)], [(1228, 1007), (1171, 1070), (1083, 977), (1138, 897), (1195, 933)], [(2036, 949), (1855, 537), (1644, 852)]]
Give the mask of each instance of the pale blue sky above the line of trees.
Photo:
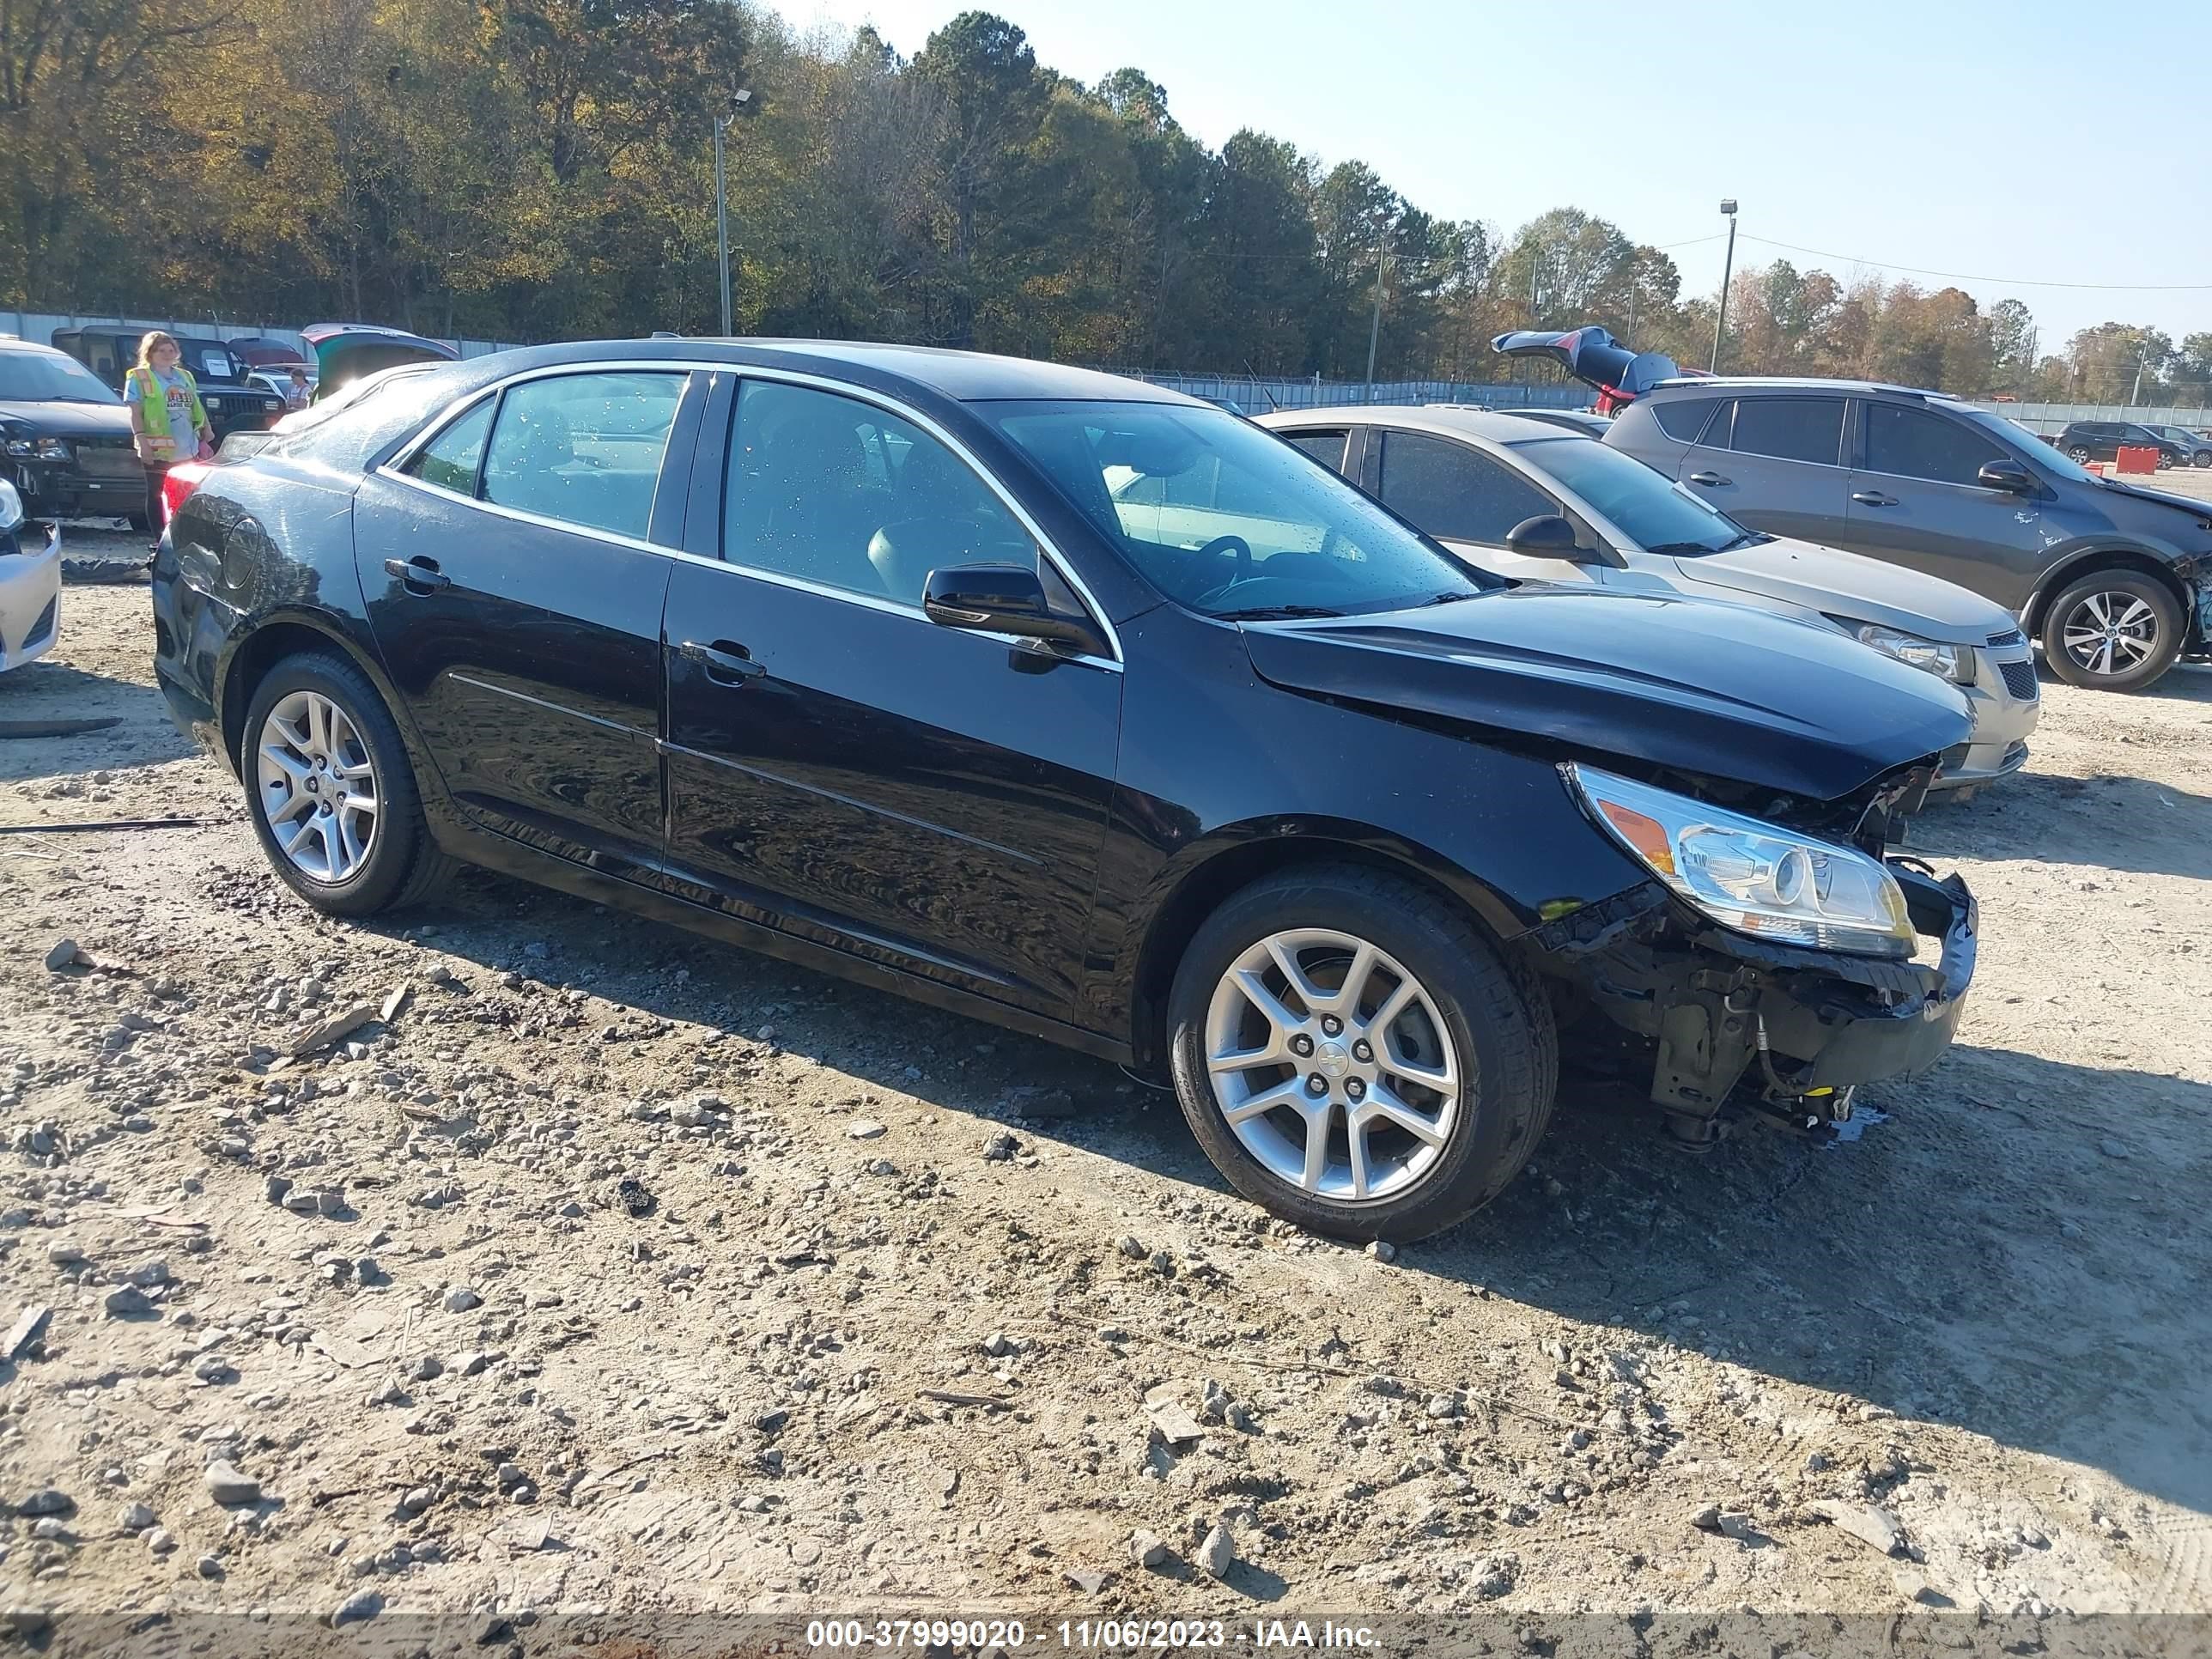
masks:
[[(902, 53), (967, 7), (783, 0)], [(2101, 321), (2212, 330), (2212, 7), (1856, 0), (1843, 7), (1495, 0), (998, 0), (1037, 60), (1135, 64), (1210, 146), (1256, 126), (1371, 164), (1447, 219), (1577, 206), (1668, 252), (1686, 292), (1736, 263), (1882, 268), (2028, 303), (2044, 352)], [(2172, 111), (2168, 115), (2166, 111)], [(1843, 259), (1774, 248), (1829, 250)], [(1697, 241), (1703, 239), (1703, 241)], [(2172, 283), (2095, 292), (2044, 283)]]

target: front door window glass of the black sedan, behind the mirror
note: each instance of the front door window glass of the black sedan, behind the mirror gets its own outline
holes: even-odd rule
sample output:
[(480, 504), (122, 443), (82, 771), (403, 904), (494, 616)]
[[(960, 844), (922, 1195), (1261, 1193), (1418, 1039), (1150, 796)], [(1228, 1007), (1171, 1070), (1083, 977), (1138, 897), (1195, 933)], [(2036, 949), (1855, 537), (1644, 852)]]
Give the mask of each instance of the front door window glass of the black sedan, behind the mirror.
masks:
[(721, 555), (911, 606), (933, 568), (1037, 566), (1029, 531), (938, 438), (781, 380), (739, 389)]

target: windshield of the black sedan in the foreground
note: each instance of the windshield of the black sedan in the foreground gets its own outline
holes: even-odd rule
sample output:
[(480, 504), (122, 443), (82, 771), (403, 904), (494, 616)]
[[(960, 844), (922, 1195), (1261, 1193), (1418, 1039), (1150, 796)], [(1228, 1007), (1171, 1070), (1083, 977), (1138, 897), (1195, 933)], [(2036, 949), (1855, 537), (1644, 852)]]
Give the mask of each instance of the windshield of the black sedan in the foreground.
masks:
[(1400, 611), (1486, 586), (1318, 460), (1221, 409), (989, 411), (1146, 582), (1210, 617)]

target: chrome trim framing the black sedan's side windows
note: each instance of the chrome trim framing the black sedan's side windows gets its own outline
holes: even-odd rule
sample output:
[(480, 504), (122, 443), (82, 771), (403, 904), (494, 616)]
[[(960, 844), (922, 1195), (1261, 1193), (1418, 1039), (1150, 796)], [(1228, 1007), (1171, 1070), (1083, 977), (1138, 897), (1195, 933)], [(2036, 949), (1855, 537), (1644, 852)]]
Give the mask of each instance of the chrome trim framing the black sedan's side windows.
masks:
[[(825, 599), (847, 599), (849, 604), (860, 604), (860, 606), (867, 606), (872, 611), (883, 611), (883, 613), (898, 615), (898, 617), (914, 617), (916, 622), (925, 622), (931, 628), (938, 626), (936, 622), (929, 622), (929, 615), (918, 604), (902, 604), (900, 599), (887, 599), (887, 597), (874, 595), (874, 593), (854, 593), (852, 588), (834, 588), (834, 586), (830, 586), (825, 582), (807, 582), (805, 577), (785, 575), (783, 571), (768, 571), (768, 568), (761, 568), (757, 564), (739, 564), (734, 560), (710, 560), (710, 557), (703, 557), (699, 553), (686, 553), (684, 549), (677, 549), (677, 546), (661, 546), (659, 542), (641, 542), (641, 540), (637, 540), (633, 535), (619, 535), (617, 531), (602, 531), (602, 529), (593, 529), (588, 524), (568, 524), (564, 520), (546, 518), (542, 513), (529, 513), (529, 511), (524, 511), (520, 507), (502, 507), (498, 502), (478, 500), (476, 495), (462, 495), (460, 491), (445, 489), (442, 484), (425, 482), (422, 478), (416, 478), (414, 473), (405, 471), (409, 465), (414, 465), (414, 458), (422, 449), (427, 449), (436, 440), (436, 436), (440, 431), (445, 431), (453, 420), (458, 420), (462, 414), (467, 414), (469, 409), (473, 409), (480, 400), (484, 400), (484, 398), (498, 398), (511, 385), (522, 385), (524, 380), (546, 380), (546, 378), (564, 376), (564, 374), (637, 374), (637, 372), (653, 372), (653, 374), (732, 374), (739, 380), (745, 380), (745, 378), (752, 378), (752, 380), (783, 380), (783, 383), (790, 383), (790, 385), (812, 387), (816, 392), (830, 392), (830, 394), (841, 396), (841, 398), (852, 398), (856, 403), (869, 403), (869, 405), (874, 405), (878, 409), (885, 409), (887, 414), (898, 416), (900, 420), (907, 420), (907, 422), (920, 427), (931, 438), (936, 438), (940, 445), (945, 445), (953, 456), (958, 456), (960, 462), (971, 473), (975, 473), (975, 478), (982, 480), (984, 489), (989, 489), (1000, 500), (1000, 504), (1009, 513), (1013, 513), (1015, 522), (1024, 531), (1029, 531), (1031, 540), (1035, 540), (1037, 553), (1042, 557), (1051, 560), (1051, 564), (1060, 573), (1060, 577), (1084, 602), (1084, 608), (1091, 613), (1091, 622), (1106, 637), (1106, 644), (1113, 646), (1113, 657), (1093, 657), (1088, 653), (1068, 653), (1068, 655), (1051, 653), (1051, 655), (1055, 655), (1060, 661), (1084, 664), (1088, 668), (1108, 668), (1113, 672), (1121, 672), (1121, 664), (1124, 664), (1124, 655), (1126, 655), (1121, 650), (1121, 633), (1113, 626), (1113, 619), (1106, 615), (1106, 606), (1099, 604), (1097, 595), (1091, 591), (1091, 584), (1082, 580), (1082, 575), (1068, 562), (1068, 557), (1053, 544), (1053, 540), (1044, 533), (1044, 529), (1037, 524), (1037, 520), (1031, 518), (1029, 509), (1024, 509), (1022, 502), (1018, 502), (1013, 498), (1013, 493), (998, 480), (998, 476), (975, 458), (973, 449), (969, 449), (964, 442), (960, 442), (953, 434), (949, 434), (936, 420), (931, 420), (929, 416), (925, 416), (920, 409), (909, 409), (898, 398), (894, 398), (894, 396), (889, 396), (885, 392), (876, 392), (874, 387), (860, 387), (860, 385), (852, 385), (847, 380), (832, 380), (830, 376), (810, 374), (805, 369), (759, 367), (759, 365), (750, 365), (750, 363), (721, 363), (721, 361), (717, 361), (717, 363), (681, 363), (681, 361), (670, 361), (670, 358), (619, 358), (619, 361), (611, 361), (611, 363), (557, 363), (557, 365), (542, 367), (542, 369), (522, 369), (520, 374), (511, 374), (504, 380), (495, 380), (495, 383), (491, 383), (487, 387), (478, 387), (476, 392), (469, 392), (462, 398), (456, 398), (453, 403), (449, 403), (442, 409), (438, 409), (436, 414), (431, 414), (431, 418), (422, 425), (422, 429), (414, 438), (409, 438), (405, 445), (400, 445), (400, 449), (396, 449), (387, 460), (378, 462), (374, 471), (378, 476), (383, 476), (383, 478), (389, 478), (396, 484), (407, 484), (409, 489), (420, 489), (420, 491), (427, 491), (427, 493), (438, 495), (442, 500), (460, 502), (462, 507), (473, 507), (473, 509), (484, 511), (484, 513), (498, 513), (500, 518), (511, 518), (511, 520), (518, 520), (522, 524), (535, 524), (535, 526), (553, 529), (553, 531), (568, 531), (571, 535), (588, 535), (593, 540), (608, 542), (613, 546), (626, 546), (626, 549), (635, 549), (639, 553), (661, 553), (666, 557), (686, 560), (690, 564), (706, 564), (706, 566), (717, 568), (717, 571), (737, 571), (741, 575), (750, 575), (750, 577), (757, 577), (761, 582), (774, 582), (779, 586), (796, 588), (801, 593), (814, 593), (814, 595), (821, 595)], [(739, 387), (739, 392), (743, 392), (743, 387)], [(732, 405), (732, 420), (734, 420), (734, 405)], [(489, 434), (487, 434), (487, 449), (489, 449)], [(719, 533), (719, 526), (717, 526), (717, 533)], [(1035, 646), (1035, 641), (1029, 641), (1029, 639), (1022, 639), (1022, 637), (1009, 635), (1009, 633), (991, 633), (987, 628), (962, 628), (960, 633), (975, 633), (975, 635), (980, 635), (984, 639), (1000, 639), (1000, 641), (1004, 641), (1009, 646), (1042, 650), (1042, 646)]]

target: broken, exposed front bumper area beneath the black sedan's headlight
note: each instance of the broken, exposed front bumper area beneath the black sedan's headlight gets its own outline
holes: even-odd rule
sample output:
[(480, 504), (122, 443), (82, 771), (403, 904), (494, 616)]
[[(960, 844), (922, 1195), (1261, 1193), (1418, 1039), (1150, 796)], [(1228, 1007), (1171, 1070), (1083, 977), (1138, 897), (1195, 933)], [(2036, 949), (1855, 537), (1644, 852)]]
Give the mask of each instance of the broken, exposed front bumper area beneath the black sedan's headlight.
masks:
[(1933, 967), (1767, 945), (1690, 918), (1657, 885), (1540, 929), (1553, 973), (1652, 1044), (1650, 1097), (1710, 1119), (1730, 1099), (1832, 1115), (1843, 1091), (1933, 1066), (1973, 980), (1978, 907), (1958, 876), (1891, 858)]

